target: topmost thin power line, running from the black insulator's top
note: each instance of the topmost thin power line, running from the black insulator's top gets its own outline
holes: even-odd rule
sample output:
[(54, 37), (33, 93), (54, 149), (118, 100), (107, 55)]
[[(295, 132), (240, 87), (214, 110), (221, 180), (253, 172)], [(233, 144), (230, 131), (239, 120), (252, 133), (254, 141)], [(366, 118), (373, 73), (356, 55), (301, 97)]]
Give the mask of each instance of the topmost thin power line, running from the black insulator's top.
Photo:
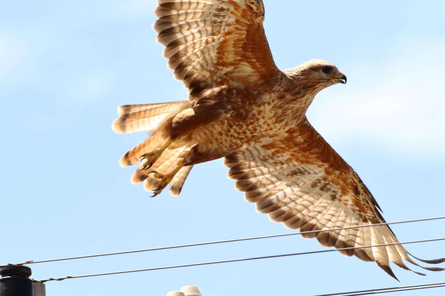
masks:
[(149, 251), (157, 251), (157, 250), (194, 247), (194, 246), (201, 246), (201, 245), (222, 244), (222, 243), (229, 243), (229, 242), (235, 242), (235, 241), (250, 241), (250, 240), (263, 239), (263, 238), (286, 237), (286, 236), (298, 235), (298, 234), (306, 234), (306, 233), (320, 233), (320, 232), (325, 232), (325, 231), (336, 231), (336, 230), (343, 230), (343, 229), (354, 229), (354, 228), (363, 228), (363, 227), (380, 226), (380, 225), (392, 225), (392, 224), (402, 224), (402, 223), (409, 223), (409, 222), (439, 220), (439, 219), (445, 219), (445, 216), (444, 217), (435, 217), (435, 218), (426, 218), (426, 219), (397, 221), (397, 222), (389, 222), (389, 223), (370, 224), (370, 225), (358, 225), (358, 226), (351, 226), (351, 227), (344, 227), (344, 228), (333, 228), (333, 229), (323, 229), (323, 230), (302, 231), (302, 232), (296, 232), (296, 233), (275, 234), (275, 235), (267, 235), (267, 236), (262, 236), (262, 237), (239, 238), (239, 239), (226, 240), (226, 241), (211, 241), (211, 242), (206, 242), (206, 243), (197, 243), (197, 244), (190, 244), (190, 245), (177, 245), (177, 246), (152, 248), (152, 249), (142, 249), (142, 250), (135, 250), (135, 251), (124, 251), (124, 252), (105, 253), (105, 254), (97, 254), (97, 255), (67, 257), (67, 258), (60, 258), (60, 259), (39, 260), (39, 261), (29, 260), (29, 261), (25, 261), (23, 263), (18, 263), (18, 264), (11, 264), (10, 263), (10, 264), (7, 264), (7, 265), (24, 265), (24, 264), (54, 262), (54, 261), (62, 261), (62, 260), (73, 260), (73, 259), (82, 259), (82, 258), (92, 258), (92, 257), (102, 257), (102, 256), (111, 256), (111, 255), (121, 255), (121, 254), (129, 254), (129, 253), (140, 253), (140, 252), (149, 252)]

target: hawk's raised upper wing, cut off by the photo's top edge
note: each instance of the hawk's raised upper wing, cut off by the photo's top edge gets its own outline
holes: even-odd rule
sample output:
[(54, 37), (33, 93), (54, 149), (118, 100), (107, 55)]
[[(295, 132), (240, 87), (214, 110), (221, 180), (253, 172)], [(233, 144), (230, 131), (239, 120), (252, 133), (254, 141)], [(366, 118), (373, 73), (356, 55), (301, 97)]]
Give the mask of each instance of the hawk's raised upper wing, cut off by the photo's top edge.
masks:
[(153, 28), (191, 99), (218, 86), (257, 85), (281, 72), (263, 29), (262, 0), (158, 0)]

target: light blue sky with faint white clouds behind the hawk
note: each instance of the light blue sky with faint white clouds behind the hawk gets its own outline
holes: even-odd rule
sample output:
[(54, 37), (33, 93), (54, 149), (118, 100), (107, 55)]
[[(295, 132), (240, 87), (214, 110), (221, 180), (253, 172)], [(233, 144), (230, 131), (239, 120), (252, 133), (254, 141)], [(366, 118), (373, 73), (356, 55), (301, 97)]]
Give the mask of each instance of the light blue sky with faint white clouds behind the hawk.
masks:
[[(317, 95), (308, 118), (357, 170), (386, 220), (443, 216), (445, 3), (264, 2), (280, 68), (326, 59), (348, 76), (346, 86)], [(2, 263), (291, 232), (255, 213), (222, 160), (195, 166), (180, 197), (149, 198), (130, 184), (134, 169), (118, 160), (145, 134), (114, 134), (117, 106), (186, 99), (154, 42), (154, 8), (155, 0), (0, 3)], [(400, 241), (438, 238), (445, 221), (392, 229)], [(30, 267), (44, 279), (321, 249), (292, 236)], [(445, 257), (444, 242), (407, 249)], [(165, 295), (197, 285), (204, 296), (310, 296), (443, 282), (445, 275), (393, 269), (400, 284), (374, 263), (333, 252), (49, 282), (46, 289), (48, 296)]]

